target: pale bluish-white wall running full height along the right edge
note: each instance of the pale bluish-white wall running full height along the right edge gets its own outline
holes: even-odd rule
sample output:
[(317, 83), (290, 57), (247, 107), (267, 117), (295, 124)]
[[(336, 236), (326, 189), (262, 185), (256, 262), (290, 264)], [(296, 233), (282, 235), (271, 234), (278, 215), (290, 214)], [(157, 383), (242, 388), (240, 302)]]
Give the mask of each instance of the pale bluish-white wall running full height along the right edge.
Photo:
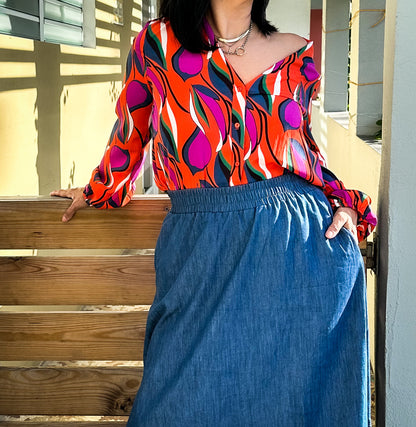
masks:
[(416, 425), (415, 16), (414, 0), (387, 1), (378, 286), (386, 305), (385, 425), (391, 427)]

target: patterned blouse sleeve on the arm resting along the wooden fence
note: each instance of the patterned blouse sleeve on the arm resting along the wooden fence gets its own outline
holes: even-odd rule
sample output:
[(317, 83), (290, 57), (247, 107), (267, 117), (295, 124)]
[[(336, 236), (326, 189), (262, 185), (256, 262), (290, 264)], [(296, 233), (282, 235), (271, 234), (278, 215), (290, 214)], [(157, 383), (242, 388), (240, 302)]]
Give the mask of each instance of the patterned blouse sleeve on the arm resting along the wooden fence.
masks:
[(124, 85), (116, 104), (117, 121), (101, 163), (84, 190), (86, 202), (96, 208), (127, 204), (143, 166), (153, 104), (143, 55), (145, 31), (146, 28), (139, 33), (129, 52)]

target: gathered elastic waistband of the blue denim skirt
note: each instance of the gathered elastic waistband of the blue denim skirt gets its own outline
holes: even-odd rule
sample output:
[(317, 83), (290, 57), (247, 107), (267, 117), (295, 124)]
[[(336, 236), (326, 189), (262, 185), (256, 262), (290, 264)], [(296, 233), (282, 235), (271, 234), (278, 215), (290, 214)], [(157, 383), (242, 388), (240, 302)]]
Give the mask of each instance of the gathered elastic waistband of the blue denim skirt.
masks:
[(268, 200), (283, 200), (288, 195), (320, 193), (322, 189), (294, 174), (234, 187), (190, 188), (168, 191), (171, 213), (227, 212), (250, 209)]

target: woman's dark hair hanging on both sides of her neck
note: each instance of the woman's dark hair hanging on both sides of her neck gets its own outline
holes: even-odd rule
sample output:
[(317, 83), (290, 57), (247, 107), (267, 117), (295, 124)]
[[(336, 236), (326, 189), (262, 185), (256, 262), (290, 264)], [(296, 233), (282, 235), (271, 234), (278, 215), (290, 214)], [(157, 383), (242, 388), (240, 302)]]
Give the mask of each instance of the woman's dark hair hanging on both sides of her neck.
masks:
[[(264, 35), (277, 31), (267, 19), (269, 0), (254, 0), (251, 19)], [(159, 16), (170, 21), (172, 30), (182, 46), (191, 52), (215, 50), (203, 36), (203, 22), (209, 10), (209, 0), (162, 0)]]

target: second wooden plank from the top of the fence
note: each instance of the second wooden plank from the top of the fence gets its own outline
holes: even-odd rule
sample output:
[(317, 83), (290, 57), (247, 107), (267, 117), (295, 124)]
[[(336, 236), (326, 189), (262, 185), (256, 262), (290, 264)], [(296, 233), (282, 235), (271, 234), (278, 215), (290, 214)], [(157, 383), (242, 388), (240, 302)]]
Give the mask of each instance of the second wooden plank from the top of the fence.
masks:
[(140, 305), (155, 293), (147, 255), (0, 258), (0, 305)]

